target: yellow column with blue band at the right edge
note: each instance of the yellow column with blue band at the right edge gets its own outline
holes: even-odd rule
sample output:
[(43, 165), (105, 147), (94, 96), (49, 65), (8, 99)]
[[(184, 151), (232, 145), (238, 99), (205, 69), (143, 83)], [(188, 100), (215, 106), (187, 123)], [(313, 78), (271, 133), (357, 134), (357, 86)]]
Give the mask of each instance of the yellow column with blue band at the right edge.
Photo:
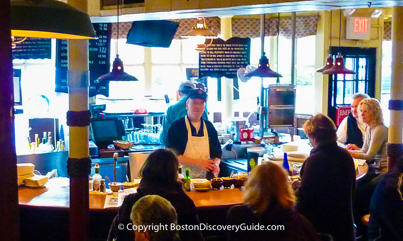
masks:
[(388, 169), (391, 169), (402, 154), (403, 124), (403, 7), (393, 8), (392, 13), (392, 83), (389, 109), (390, 126), (387, 145)]

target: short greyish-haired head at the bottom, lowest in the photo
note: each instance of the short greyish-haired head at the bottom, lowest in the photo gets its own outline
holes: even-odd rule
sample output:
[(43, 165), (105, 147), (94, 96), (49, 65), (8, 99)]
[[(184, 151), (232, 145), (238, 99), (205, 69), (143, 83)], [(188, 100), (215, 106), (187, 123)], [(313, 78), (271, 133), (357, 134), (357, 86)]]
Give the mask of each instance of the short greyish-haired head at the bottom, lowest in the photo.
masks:
[[(172, 204), (157, 195), (147, 195), (140, 198), (131, 209), (130, 219), (133, 225), (152, 225), (153, 230), (135, 229), (135, 241), (173, 241), (179, 239), (178, 230), (171, 230), (171, 223), (177, 225), (177, 215)], [(165, 226), (165, 224), (167, 224)], [(163, 227), (164, 226), (164, 227)], [(165, 228), (167, 227), (167, 228)]]

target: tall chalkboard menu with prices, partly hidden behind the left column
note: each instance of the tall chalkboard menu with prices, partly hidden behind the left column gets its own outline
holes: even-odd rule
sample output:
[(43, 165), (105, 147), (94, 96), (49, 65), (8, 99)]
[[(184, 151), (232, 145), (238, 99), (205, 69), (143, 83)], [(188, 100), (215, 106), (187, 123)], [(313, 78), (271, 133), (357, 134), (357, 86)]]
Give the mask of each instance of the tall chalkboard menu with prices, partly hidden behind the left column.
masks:
[[(109, 96), (109, 82), (98, 81), (98, 77), (109, 72), (111, 24), (93, 23), (98, 39), (88, 41), (90, 70), (89, 96), (103, 94)], [(56, 41), (56, 92), (68, 93), (67, 72), (69, 68), (69, 42)]]

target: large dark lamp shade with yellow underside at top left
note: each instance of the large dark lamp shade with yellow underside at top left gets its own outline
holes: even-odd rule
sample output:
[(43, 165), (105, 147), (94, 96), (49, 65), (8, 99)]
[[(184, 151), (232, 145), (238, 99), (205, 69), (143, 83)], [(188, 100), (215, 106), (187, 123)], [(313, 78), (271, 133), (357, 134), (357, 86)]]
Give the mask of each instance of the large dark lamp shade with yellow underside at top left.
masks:
[(95, 39), (87, 13), (56, 0), (11, 0), (11, 35), (54, 39)]

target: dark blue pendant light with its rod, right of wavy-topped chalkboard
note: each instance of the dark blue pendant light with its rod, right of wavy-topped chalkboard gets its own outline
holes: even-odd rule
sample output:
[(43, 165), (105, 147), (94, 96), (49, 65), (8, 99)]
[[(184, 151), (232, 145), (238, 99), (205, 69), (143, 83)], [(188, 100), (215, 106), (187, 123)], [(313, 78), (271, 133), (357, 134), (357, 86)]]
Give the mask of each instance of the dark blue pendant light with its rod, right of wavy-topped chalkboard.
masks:
[[(264, 14), (262, 16), (262, 20), (260, 21), (260, 38), (261, 38), (261, 58), (259, 60), (259, 64), (257, 65), (257, 69), (245, 74), (245, 77), (261, 77), (261, 78), (265, 78), (265, 77), (269, 77), (269, 78), (278, 78), (278, 77), (283, 77), (283, 75), (273, 71), (270, 66), (268, 65), (268, 59), (266, 58), (266, 55), (263, 51), (264, 49)], [(279, 44), (279, 43), (277, 43)]]

